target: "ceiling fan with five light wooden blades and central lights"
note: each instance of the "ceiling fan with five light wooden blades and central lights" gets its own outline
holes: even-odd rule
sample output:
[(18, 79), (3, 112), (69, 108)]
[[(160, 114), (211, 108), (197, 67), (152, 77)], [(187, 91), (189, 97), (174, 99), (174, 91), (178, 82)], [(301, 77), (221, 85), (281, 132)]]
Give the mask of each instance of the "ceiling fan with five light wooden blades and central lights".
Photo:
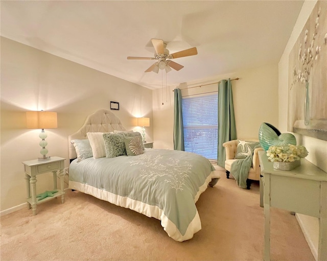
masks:
[(169, 54), (169, 51), (166, 49), (167, 43), (165, 43), (161, 39), (151, 39), (152, 45), (154, 47), (154, 50), (156, 52), (155, 57), (131, 57), (128, 56), (128, 60), (158, 60), (154, 64), (152, 64), (148, 69), (145, 70), (145, 73), (148, 72), (154, 72), (158, 73), (159, 69), (166, 70), (166, 73), (171, 71), (171, 68), (175, 70), (180, 70), (183, 68), (183, 65), (180, 65), (172, 60), (168, 59), (175, 59), (185, 56), (192, 56), (197, 55), (198, 51), (196, 50), (196, 47), (186, 49), (183, 51), (179, 51), (173, 54)]

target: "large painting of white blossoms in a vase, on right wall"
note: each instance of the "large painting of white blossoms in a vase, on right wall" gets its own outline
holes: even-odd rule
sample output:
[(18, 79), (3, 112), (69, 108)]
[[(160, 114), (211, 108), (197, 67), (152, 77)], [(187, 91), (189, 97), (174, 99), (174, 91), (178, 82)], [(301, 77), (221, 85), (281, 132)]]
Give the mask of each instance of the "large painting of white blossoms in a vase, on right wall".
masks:
[(327, 1), (317, 1), (289, 55), (287, 130), (327, 140)]

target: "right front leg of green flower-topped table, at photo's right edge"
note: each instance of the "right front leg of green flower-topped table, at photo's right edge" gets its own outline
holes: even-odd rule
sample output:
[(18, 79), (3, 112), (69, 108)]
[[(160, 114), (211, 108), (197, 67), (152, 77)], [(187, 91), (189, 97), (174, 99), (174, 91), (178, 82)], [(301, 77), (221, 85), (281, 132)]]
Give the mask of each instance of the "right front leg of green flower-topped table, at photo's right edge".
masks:
[(327, 182), (320, 184), (318, 261), (327, 260)]

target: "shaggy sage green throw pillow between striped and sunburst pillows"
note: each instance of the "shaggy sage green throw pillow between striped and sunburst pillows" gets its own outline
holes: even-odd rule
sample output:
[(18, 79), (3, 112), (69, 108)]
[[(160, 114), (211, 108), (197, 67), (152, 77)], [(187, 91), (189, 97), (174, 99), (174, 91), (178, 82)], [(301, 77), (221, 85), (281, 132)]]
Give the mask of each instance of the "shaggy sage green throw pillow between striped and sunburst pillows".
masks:
[(127, 155), (123, 135), (104, 133), (103, 140), (107, 158)]

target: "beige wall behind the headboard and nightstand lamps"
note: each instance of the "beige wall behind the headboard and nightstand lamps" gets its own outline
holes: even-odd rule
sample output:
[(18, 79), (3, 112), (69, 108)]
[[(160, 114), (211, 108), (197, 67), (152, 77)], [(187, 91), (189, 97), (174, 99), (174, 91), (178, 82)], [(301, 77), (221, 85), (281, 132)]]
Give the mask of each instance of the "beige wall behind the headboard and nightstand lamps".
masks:
[[(26, 129), (25, 111), (58, 113), (58, 128), (48, 133), (48, 155), (66, 158), (67, 136), (77, 131), (88, 114), (110, 109), (127, 129), (134, 116), (150, 117), (146, 128), (152, 140), (152, 90), (80, 64), (1, 38), (1, 211), (26, 202), (22, 161), (40, 156), (40, 130)], [(142, 106), (141, 106), (142, 105)], [(51, 174), (37, 176), (37, 193), (52, 190)]]

